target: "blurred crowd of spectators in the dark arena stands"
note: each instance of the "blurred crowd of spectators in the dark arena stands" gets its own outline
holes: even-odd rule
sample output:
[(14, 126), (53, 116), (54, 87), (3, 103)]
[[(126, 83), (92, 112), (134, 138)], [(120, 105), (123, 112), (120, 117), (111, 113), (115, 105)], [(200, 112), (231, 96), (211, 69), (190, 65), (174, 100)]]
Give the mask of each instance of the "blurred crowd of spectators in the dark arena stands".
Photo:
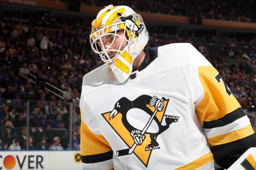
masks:
[[(83, 0), (85, 4), (104, 6), (100, 0)], [(108, 3), (120, 4), (122, 0)], [(185, 1), (125, 1), (139, 11), (166, 13), (170, 15), (200, 15), (204, 18), (255, 22), (251, 4), (214, 1), (189, 1), (192, 9), (188, 13)], [(149, 5), (148, 5), (149, 4)], [(167, 6), (167, 7), (166, 7)], [(204, 8), (206, 6), (206, 8)], [(187, 8), (187, 7), (186, 7)], [(230, 11), (225, 11), (229, 9)], [(100, 57), (91, 51), (90, 29), (93, 17), (56, 17), (53, 13), (5, 13), (0, 20), (0, 150), (26, 149), (75, 149), (79, 150), (80, 112), (77, 107), (82, 88), (82, 77), (103, 64)], [(215, 33), (195, 35), (183, 30), (181, 34), (169, 32), (168, 27), (148, 27), (148, 47), (169, 43), (189, 42), (202, 53), (221, 73), (233, 95), (244, 110), (248, 110), (254, 124), (256, 103), (256, 39)], [(31, 79), (24, 78), (32, 76)], [(50, 87), (47, 87), (48, 82)], [(62, 90), (61, 97), (49, 92)], [(58, 93), (59, 91), (55, 91)], [(29, 129), (26, 120), (29, 105)], [(72, 105), (74, 130), (72, 144), (69, 143), (69, 103)], [(254, 127), (254, 125), (253, 125)], [(19, 128), (19, 130), (13, 130)], [(47, 136), (46, 131), (58, 129), (61, 136)], [(61, 131), (64, 130), (64, 131)], [(20, 134), (20, 135), (19, 135)], [(42, 138), (43, 137), (43, 138)], [(20, 146), (20, 147), (18, 147)], [(43, 147), (42, 147), (43, 146)], [(62, 148), (61, 148), (62, 147)]]

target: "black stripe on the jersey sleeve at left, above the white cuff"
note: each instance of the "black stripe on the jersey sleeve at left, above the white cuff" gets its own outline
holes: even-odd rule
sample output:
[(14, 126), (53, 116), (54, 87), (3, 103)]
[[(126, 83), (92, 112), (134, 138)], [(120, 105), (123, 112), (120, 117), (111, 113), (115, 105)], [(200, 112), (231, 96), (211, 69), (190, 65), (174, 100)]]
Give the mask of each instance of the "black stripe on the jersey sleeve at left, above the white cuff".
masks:
[(113, 150), (96, 155), (81, 156), (82, 163), (99, 163), (113, 158)]

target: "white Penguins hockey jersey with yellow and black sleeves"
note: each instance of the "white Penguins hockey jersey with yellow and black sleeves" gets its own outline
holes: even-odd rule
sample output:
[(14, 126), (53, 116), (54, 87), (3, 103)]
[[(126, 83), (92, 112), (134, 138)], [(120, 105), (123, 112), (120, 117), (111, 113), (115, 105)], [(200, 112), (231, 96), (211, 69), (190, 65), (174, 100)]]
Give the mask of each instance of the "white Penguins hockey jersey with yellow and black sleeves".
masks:
[(218, 71), (189, 43), (158, 47), (122, 84), (107, 64), (84, 75), (80, 110), (84, 170), (214, 170), (256, 141)]

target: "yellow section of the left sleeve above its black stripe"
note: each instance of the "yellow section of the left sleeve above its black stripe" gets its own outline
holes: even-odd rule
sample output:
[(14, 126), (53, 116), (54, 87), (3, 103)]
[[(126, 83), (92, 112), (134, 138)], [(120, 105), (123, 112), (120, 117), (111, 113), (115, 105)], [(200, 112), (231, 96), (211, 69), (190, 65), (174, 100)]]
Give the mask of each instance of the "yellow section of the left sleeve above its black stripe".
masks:
[(81, 121), (81, 155), (96, 155), (110, 151), (108, 141), (102, 136), (92, 133), (84, 121)]

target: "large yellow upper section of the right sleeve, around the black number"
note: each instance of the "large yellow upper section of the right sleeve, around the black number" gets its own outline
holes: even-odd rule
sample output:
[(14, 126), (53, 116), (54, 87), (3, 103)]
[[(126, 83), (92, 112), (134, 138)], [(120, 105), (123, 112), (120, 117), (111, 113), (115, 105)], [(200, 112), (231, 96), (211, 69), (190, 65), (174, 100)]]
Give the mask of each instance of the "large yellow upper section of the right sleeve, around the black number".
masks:
[(215, 79), (218, 71), (213, 66), (198, 67), (198, 76), (204, 90), (204, 97), (196, 105), (196, 114), (203, 126), (204, 121), (219, 119), (241, 107), (233, 95), (228, 95), (223, 80)]

